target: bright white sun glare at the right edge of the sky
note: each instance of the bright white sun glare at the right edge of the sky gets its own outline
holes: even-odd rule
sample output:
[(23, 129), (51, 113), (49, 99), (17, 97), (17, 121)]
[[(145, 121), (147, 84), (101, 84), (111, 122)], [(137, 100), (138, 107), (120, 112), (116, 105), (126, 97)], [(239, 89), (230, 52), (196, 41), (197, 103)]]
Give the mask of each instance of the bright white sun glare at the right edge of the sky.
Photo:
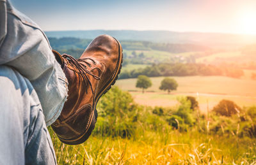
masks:
[(244, 11), (240, 16), (239, 31), (243, 34), (256, 34), (256, 11)]

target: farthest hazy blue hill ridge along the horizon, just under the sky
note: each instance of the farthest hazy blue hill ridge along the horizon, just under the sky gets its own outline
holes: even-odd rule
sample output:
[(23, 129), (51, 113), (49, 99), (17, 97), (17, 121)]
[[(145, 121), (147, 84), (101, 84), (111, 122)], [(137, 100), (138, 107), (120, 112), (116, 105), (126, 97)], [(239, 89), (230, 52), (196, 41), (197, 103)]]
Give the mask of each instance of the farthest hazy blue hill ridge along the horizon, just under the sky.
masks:
[(46, 31), (48, 37), (93, 39), (100, 34), (109, 34), (118, 40), (152, 41), (158, 43), (188, 43), (214, 48), (237, 48), (256, 43), (256, 36), (211, 32), (173, 31)]

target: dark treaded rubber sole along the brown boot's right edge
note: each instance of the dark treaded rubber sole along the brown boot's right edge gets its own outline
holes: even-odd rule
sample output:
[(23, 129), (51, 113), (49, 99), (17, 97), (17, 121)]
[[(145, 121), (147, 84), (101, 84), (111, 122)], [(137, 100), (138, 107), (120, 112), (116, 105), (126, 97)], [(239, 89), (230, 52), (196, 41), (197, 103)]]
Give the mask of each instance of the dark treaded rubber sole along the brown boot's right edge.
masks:
[[(84, 141), (86, 141), (89, 138), (89, 136), (92, 134), (92, 131), (95, 127), (95, 123), (97, 121), (97, 116), (98, 116), (98, 113), (97, 113), (97, 110), (96, 110), (97, 103), (98, 103), (100, 97), (103, 94), (106, 94), (106, 92), (108, 92), (109, 89), (111, 89), (111, 86), (115, 84), (115, 82), (118, 78), (118, 75), (119, 75), (119, 73), (121, 71), (121, 68), (122, 68), (123, 49), (122, 49), (122, 46), (119, 43), (119, 41), (117, 41), (117, 39), (115, 39), (115, 40), (118, 43), (118, 62), (117, 62), (117, 65), (116, 65), (115, 73), (112, 76), (112, 78), (109, 80), (109, 82), (106, 83), (106, 85), (103, 87), (103, 90), (101, 90), (99, 92), (99, 94), (95, 97), (95, 103), (93, 104), (93, 114), (92, 114), (92, 117), (90, 118), (90, 126), (88, 127), (88, 129), (81, 136), (79, 136), (79, 138), (76, 138), (76, 139), (65, 140), (63, 138), (58, 137), (60, 139), (60, 141), (62, 141), (63, 143), (65, 143), (67, 145), (79, 145), (79, 144), (83, 143)], [(93, 120), (94, 120), (94, 122), (93, 122)]]

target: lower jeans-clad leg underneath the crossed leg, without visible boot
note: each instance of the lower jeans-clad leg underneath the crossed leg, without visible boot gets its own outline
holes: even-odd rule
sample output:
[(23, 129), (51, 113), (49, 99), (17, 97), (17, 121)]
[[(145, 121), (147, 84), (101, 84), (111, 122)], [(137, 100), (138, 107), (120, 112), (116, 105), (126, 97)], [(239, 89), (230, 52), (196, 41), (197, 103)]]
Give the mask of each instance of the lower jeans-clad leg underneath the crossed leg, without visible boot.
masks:
[(28, 79), (0, 66), (0, 164), (56, 164), (42, 106)]

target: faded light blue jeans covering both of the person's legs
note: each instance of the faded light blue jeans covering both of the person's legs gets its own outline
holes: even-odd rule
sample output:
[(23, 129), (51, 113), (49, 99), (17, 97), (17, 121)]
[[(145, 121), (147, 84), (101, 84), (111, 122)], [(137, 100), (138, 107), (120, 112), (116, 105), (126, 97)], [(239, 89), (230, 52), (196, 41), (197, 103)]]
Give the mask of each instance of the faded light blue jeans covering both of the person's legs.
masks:
[(44, 32), (0, 0), (0, 164), (56, 164), (47, 131), (67, 79)]

